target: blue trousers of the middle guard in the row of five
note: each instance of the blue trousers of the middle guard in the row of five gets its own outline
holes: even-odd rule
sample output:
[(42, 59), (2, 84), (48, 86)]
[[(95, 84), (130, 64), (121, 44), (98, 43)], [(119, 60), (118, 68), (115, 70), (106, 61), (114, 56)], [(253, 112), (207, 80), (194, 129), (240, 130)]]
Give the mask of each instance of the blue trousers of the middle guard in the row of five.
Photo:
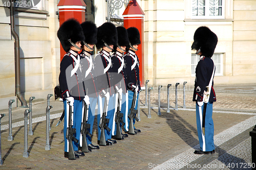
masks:
[[(105, 140), (112, 138), (113, 118), (114, 118), (114, 112), (115, 112), (114, 98), (115, 98), (115, 94), (110, 96), (108, 113), (106, 115), (106, 118), (109, 119), (109, 123), (107, 125), (111, 129), (111, 131), (109, 132), (107, 130), (104, 130), (105, 131)], [(102, 101), (101, 104), (100, 104), (100, 100)], [(105, 102), (105, 98), (100, 98), (100, 96), (98, 96), (98, 115), (97, 115), (98, 125), (100, 124), (100, 118), (101, 118), (100, 110), (102, 109), (102, 111), (103, 111), (104, 102)], [(98, 140), (100, 140), (100, 133), (101, 133), (101, 130), (98, 126)]]

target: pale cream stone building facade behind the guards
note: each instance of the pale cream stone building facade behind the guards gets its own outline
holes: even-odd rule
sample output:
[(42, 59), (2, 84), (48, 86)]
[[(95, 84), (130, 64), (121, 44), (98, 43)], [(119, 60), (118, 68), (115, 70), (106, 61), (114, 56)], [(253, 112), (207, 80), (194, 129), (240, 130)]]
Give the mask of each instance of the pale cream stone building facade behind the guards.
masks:
[[(113, 0), (112, 0), (113, 1)], [(125, 0), (122, 0), (124, 2)], [(0, 2), (0, 107), (15, 96), (14, 38), (10, 2)], [(41, 0), (33, 8), (15, 8), (20, 41), (20, 89), (25, 99), (46, 99), (58, 84), (60, 43), (58, 0)], [(106, 22), (105, 1), (86, 0), (87, 20)], [(219, 38), (215, 54), (215, 84), (256, 83), (256, 1), (148, 0), (137, 1), (144, 11), (144, 77), (151, 85), (188, 82), (194, 85), (198, 57), (191, 51), (193, 36), (207, 26)], [(122, 16), (125, 7), (115, 11)], [(9, 15), (8, 15), (9, 13)], [(114, 22), (122, 25), (122, 22)]]

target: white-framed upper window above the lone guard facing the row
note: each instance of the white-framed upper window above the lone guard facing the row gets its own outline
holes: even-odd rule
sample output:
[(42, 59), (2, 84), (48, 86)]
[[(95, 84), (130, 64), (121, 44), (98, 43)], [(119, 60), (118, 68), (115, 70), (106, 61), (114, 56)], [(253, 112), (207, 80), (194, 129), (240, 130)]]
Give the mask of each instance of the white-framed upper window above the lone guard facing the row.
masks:
[(193, 19), (224, 19), (224, 0), (192, 0)]

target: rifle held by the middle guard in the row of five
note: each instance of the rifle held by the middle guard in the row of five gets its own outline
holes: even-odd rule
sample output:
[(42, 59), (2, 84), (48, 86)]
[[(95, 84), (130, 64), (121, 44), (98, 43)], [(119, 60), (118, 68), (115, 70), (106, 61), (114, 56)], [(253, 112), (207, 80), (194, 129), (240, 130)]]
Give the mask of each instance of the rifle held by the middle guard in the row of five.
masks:
[(106, 129), (109, 132), (111, 131), (111, 129), (108, 127), (108, 123), (110, 122), (110, 119), (106, 118), (106, 115), (108, 114), (110, 93), (105, 92), (104, 90), (102, 90), (102, 92), (104, 94), (105, 102), (104, 102), (103, 113), (102, 113), (102, 116), (100, 118), (100, 124), (99, 124), (99, 128), (100, 128), (100, 131), (101, 131), (99, 145), (105, 146), (106, 145), (106, 139), (105, 139), (105, 131), (104, 130)]

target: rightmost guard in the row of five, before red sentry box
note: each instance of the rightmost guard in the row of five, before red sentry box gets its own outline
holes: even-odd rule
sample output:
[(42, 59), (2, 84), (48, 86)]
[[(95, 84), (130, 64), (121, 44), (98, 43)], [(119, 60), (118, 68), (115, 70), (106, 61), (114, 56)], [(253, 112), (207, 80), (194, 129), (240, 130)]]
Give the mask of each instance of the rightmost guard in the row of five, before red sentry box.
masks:
[[(127, 75), (127, 90), (128, 90), (128, 110), (130, 110), (129, 115), (131, 115), (131, 111), (137, 110), (138, 105), (138, 92), (140, 91), (140, 77), (139, 77), (139, 58), (136, 55), (136, 51), (138, 51), (138, 45), (140, 44), (140, 33), (139, 30), (135, 27), (130, 27), (127, 29), (128, 37), (130, 41), (130, 45), (128, 47), (129, 51), (124, 56), (124, 62), (126, 65), (126, 75)], [(136, 95), (135, 95), (136, 94)], [(134, 105), (134, 106), (133, 106)], [(132, 109), (132, 110), (131, 110)], [(132, 118), (133, 124), (135, 124), (135, 115), (128, 119), (128, 123), (125, 124), (125, 130), (128, 134), (137, 134), (140, 130), (134, 130), (130, 128), (130, 119)], [(138, 119), (137, 119), (138, 120)], [(131, 132), (130, 132), (131, 131)]]

